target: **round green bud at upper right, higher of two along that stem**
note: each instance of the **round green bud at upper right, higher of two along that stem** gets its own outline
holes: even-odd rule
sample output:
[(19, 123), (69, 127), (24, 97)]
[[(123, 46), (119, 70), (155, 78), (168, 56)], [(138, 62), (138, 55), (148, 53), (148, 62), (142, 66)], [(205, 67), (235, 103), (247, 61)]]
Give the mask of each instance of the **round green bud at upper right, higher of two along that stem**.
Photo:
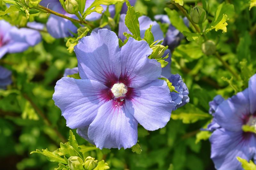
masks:
[(202, 24), (206, 19), (206, 11), (201, 6), (195, 6), (190, 11), (190, 17), (196, 24)]

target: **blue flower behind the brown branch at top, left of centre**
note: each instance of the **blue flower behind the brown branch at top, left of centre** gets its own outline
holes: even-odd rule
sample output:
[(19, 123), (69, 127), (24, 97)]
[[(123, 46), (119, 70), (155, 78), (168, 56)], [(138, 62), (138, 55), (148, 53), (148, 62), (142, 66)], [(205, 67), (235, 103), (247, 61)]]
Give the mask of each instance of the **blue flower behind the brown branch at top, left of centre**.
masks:
[[(85, 10), (89, 8), (89, 6), (94, 2), (94, 0), (87, 0), (85, 4)], [(61, 6), (59, 0), (43, 0), (40, 2), (41, 5), (44, 7), (47, 7), (49, 9), (52, 9), (53, 11), (59, 12), (63, 15), (66, 15), (71, 18), (77, 19), (76, 15), (67, 13)], [(102, 5), (103, 9), (106, 10), (107, 6)], [(115, 10), (114, 5), (109, 6), (109, 12), (113, 13)], [(92, 12), (90, 15), (86, 16), (86, 20), (93, 21), (100, 19), (101, 14), (97, 12)], [(64, 38), (73, 36), (72, 33), (77, 32), (77, 27), (68, 19), (58, 17), (56, 15), (51, 14), (48, 18), (48, 21), (46, 23), (46, 27), (48, 32), (54, 37), (54, 38)]]

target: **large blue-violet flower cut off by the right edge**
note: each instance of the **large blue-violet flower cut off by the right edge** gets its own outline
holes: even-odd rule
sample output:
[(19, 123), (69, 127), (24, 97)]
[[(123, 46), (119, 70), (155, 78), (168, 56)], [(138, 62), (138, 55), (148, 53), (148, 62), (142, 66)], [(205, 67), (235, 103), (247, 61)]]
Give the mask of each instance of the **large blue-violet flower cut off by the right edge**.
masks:
[(256, 161), (256, 134), (242, 130), (243, 125), (256, 128), (256, 74), (250, 78), (249, 87), (243, 92), (227, 100), (217, 96), (210, 106), (213, 120), (219, 125), (217, 129), (213, 128), (210, 137), (215, 168), (242, 170), (237, 156)]

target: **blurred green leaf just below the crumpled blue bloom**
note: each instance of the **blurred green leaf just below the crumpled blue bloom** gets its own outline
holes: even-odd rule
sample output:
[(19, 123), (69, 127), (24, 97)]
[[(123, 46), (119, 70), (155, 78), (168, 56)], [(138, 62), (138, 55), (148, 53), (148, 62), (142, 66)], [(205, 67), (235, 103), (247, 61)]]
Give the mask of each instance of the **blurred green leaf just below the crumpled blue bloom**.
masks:
[(211, 115), (203, 112), (193, 104), (187, 104), (182, 109), (177, 109), (172, 113), (171, 118), (173, 120), (182, 120), (183, 123), (195, 123), (199, 120), (210, 118)]

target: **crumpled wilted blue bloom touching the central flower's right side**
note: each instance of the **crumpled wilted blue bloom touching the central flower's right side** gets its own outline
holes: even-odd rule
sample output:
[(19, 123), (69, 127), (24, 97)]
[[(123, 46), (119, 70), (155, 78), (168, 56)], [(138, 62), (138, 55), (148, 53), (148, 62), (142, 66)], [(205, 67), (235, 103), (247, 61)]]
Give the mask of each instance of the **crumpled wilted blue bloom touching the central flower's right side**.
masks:
[(171, 92), (172, 103), (174, 104), (173, 110), (176, 110), (177, 108), (184, 106), (189, 102), (188, 87), (183, 82), (179, 74), (172, 74), (168, 78), (168, 80), (172, 82), (172, 85), (175, 87), (175, 90), (179, 92)]

